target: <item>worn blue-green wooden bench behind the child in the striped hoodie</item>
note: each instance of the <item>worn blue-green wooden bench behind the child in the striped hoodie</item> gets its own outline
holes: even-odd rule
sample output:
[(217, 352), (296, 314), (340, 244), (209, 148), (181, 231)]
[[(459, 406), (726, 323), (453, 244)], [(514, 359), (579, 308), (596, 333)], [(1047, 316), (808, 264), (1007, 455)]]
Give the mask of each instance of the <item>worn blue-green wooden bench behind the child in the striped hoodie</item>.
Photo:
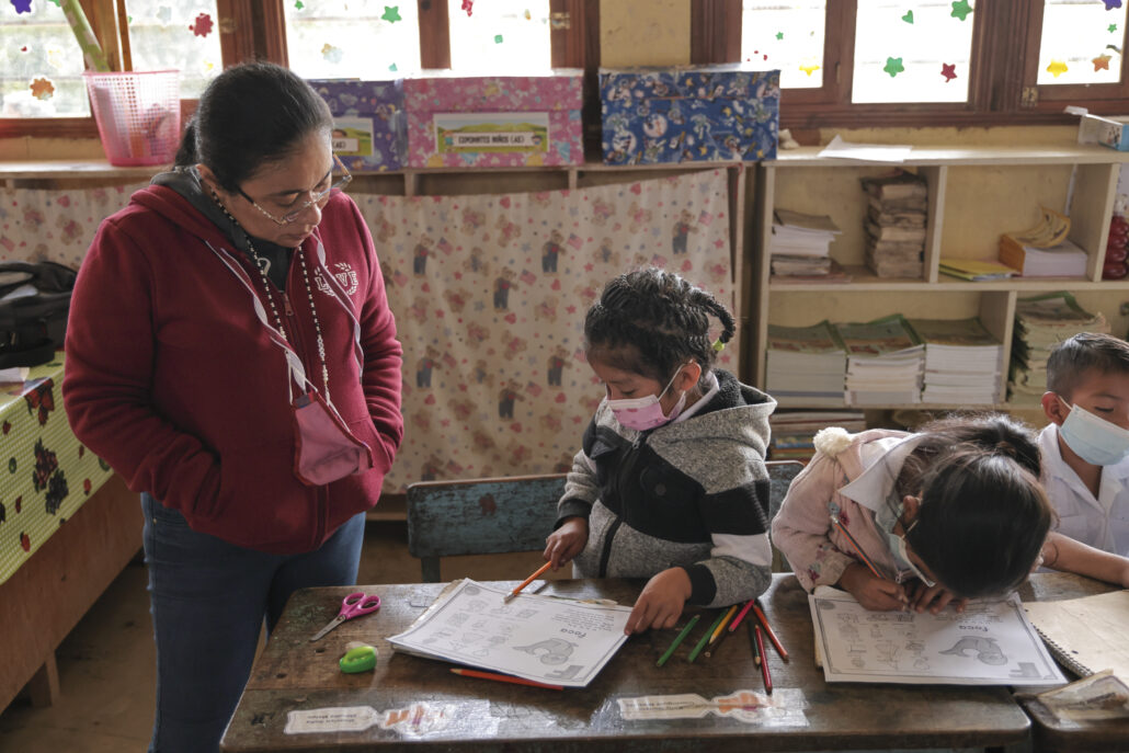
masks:
[[(780, 509), (788, 484), (804, 465), (772, 461), (769, 516)], [(557, 522), (563, 473), (549, 475), (421, 481), (408, 488), (408, 551), (420, 558), (423, 583), (437, 583), (439, 558), (461, 554), (535, 552)], [(779, 561), (778, 561), (779, 560)], [(773, 551), (773, 569), (787, 569)]]

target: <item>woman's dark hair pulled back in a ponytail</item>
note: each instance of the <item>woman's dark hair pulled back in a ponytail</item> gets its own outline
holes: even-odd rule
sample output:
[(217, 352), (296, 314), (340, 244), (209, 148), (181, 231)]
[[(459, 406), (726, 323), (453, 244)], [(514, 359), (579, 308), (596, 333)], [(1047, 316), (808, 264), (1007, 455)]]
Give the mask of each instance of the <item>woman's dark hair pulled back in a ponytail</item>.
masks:
[(184, 128), (176, 165), (203, 163), (234, 193), (309, 133), (332, 126), (325, 100), (301, 78), (272, 63), (245, 63), (204, 89)]

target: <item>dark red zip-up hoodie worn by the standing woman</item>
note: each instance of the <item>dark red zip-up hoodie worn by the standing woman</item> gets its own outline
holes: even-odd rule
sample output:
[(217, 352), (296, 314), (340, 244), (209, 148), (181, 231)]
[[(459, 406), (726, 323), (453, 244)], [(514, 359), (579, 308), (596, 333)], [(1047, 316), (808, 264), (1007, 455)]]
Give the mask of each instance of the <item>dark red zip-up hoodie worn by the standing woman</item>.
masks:
[[(251, 260), (177, 192), (149, 186), (102, 222), (79, 271), (67, 327), (63, 400), (71, 428), (133, 491), (180, 510), (189, 525), (240, 546), (291, 554), (320, 546), (376, 505), (403, 437), (396, 325), (368, 227), (334, 192), (317, 234), (325, 266), (348, 294), (353, 323), (317, 261), (304, 254), (325, 342), (330, 393), (375, 466), (324, 487), (294, 474), (294, 409), (283, 352), (255, 315), (251, 292), (217, 257)], [(295, 259), (275, 307), (318, 388), (322, 369), (309, 296)]]

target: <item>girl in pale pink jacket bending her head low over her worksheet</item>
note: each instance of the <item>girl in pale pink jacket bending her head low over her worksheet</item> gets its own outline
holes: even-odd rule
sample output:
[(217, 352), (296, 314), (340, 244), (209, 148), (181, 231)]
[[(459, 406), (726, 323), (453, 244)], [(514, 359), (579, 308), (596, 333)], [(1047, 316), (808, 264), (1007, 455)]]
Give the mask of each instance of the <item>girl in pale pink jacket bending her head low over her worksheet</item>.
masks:
[(916, 434), (824, 429), (815, 449), (772, 522), (806, 589), (936, 613), (1005, 593), (1039, 563), (1053, 511), (1034, 435), (1012, 418), (945, 419)]

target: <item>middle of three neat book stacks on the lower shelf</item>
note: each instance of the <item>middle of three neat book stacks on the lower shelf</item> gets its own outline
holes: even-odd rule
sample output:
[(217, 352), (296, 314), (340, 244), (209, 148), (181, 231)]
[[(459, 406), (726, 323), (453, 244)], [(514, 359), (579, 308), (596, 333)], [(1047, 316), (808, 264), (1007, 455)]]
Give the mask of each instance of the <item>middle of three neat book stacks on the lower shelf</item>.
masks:
[(921, 402), (925, 348), (901, 314), (867, 323), (837, 324), (847, 349), (848, 405)]

